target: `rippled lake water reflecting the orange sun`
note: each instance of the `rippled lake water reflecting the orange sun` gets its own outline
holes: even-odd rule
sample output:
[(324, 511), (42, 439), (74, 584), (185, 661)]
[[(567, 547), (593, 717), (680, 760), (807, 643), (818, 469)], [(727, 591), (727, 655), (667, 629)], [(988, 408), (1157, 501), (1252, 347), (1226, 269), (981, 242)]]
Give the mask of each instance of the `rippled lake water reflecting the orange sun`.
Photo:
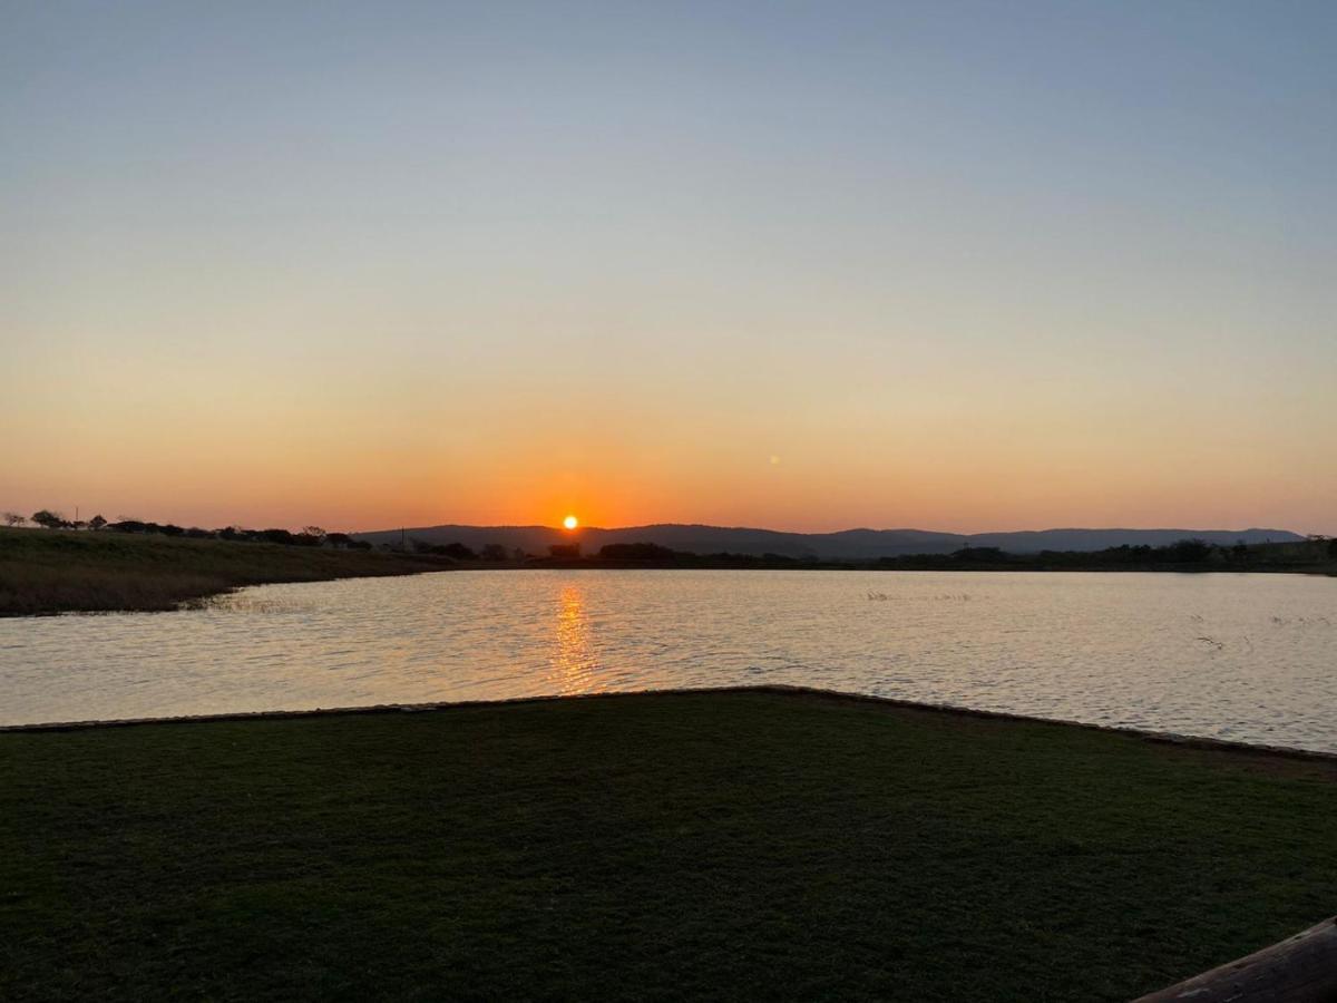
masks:
[(766, 682), (1337, 750), (1337, 580), (481, 571), (0, 621), (0, 723)]

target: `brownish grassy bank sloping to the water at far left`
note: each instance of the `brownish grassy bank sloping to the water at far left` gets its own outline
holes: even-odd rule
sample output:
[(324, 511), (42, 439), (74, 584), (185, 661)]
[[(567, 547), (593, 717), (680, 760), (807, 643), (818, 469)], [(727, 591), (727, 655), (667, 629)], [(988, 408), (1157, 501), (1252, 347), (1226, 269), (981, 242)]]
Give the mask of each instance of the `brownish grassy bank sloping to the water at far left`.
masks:
[(171, 610), (269, 582), (439, 571), (432, 556), (115, 532), (0, 530), (0, 617)]

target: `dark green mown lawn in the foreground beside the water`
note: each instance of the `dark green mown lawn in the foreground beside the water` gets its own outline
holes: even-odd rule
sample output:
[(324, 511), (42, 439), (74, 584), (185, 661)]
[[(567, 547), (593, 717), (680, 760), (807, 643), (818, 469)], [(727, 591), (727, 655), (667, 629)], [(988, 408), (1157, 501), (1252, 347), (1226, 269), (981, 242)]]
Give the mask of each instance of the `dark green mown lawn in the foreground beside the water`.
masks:
[(0, 998), (1127, 999), (1337, 766), (773, 691), (0, 734)]

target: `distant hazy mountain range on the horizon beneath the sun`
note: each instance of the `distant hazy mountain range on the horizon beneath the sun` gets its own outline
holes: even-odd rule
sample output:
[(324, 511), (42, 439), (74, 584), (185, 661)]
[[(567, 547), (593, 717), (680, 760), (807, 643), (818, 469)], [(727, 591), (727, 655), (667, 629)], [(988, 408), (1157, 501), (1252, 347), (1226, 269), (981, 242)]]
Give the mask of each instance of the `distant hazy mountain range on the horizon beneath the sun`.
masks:
[(928, 530), (842, 530), (840, 532), (779, 532), (723, 526), (659, 523), (616, 530), (582, 527), (574, 532), (547, 526), (420, 526), (354, 534), (373, 544), (398, 543), (401, 535), (424, 543), (463, 543), (480, 550), (500, 543), (508, 551), (545, 555), (554, 543), (579, 542), (586, 554), (608, 543), (658, 543), (694, 554), (779, 554), (818, 560), (872, 560), (904, 554), (951, 554), (961, 547), (997, 547), (1012, 554), (1042, 550), (1095, 551), (1106, 547), (1161, 547), (1182, 539), (1209, 543), (1286, 543), (1304, 536), (1288, 530), (1036, 530), (1024, 532), (932, 532)]

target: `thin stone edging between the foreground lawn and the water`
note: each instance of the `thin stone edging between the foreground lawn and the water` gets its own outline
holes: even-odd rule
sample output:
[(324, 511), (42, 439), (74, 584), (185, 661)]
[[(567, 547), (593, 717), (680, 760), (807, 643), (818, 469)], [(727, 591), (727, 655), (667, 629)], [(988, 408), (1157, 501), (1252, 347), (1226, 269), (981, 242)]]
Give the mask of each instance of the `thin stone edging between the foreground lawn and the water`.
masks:
[(600, 693), (548, 694), (536, 697), (504, 697), (500, 699), (433, 701), (427, 703), (370, 703), (350, 707), (309, 707), (302, 710), (239, 710), (219, 714), (178, 714), (172, 717), (140, 718), (94, 718), (87, 721), (48, 721), (25, 725), (0, 725), (0, 734), (35, 732), (84, 732), (98, 729), (138, 728), (152, 725), (191, 725), (245, 721), (281, 721), (289, 718), (366, 717), (377, 714), (432, 714), (477, 707), (508, 707), (543, 703), (566, 703), (576, 701), (626, 699), (634, 697), (681, 697), (681, 695), (729, 695), (729, 694), (773, 694), (792, 695), (828, 702), (850, 702), (858, 705), (882, 706), (886, 709), (923, 711), (947, 717), (983, 721), (1012, 722), (1025, 725), (1050, 725), (1054, 728), (1080, 729), (1111, 736), (1128, 736), (1161, 745), (1182, 749), (1201, 749), (1227, 754), (1257, 756), (1265, 758), (1288, 758), (1337, 765), (1337, 752), (1297, 749), (1288, 745), (1266, 745), (1258, 742), (1237, 742), (1227, 738), (1181, 734), (1178, 732), (1157, 732), (1144, 728), (1120, 725), (1095, 725), (1084, 721), (1063, 718), (1032, 717), (1005, 710), (983, 710), (953, 703), (924, 703), (900, 697), (878, 697), (865, 693), (828, 690), (820, 686), (800, 686), (790, 683), (762, 683), (757, 686), (703, 686), (667, 687), (646, 690), (608, 690)]

